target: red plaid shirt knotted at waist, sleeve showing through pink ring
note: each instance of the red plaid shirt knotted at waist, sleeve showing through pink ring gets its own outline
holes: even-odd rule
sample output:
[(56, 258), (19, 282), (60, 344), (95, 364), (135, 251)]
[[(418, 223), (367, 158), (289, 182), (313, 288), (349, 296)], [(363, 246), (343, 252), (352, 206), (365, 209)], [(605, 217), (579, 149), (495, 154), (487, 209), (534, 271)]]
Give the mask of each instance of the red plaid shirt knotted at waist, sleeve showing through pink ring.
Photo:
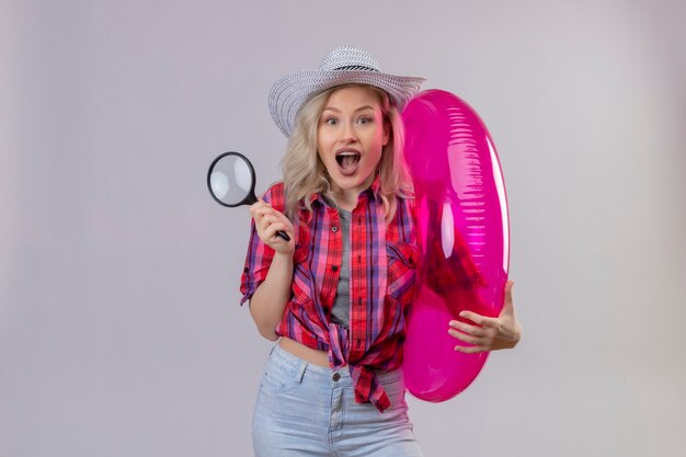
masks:
[[(264, 201), (283, 212), (283, 183), (272, 186)], [(396, 215), (387, 224), (378, 179), (359, 195), (350, 227), (348, 329), (330, 319), (343, 251), (339, 213), (320, 195), (315, 195), (311, 203), (312, 212), (302, 207), (299, 220), (294, 221), (297, 242), (291, 296), (275, 332), (308, 347), (328, 351), (331, 368), (348, 365), (356, 401), (370, 401), (384, 411), (390, 402), (376, 373), (396, 369), (402, 364), (404, 319), (415, 284), (418, 248), (413, 199), (398, 198)], [(274, 256), (274, 251), (260, 240), (254, 222), (251, 226), (241, 277), (241, 305), (266, 278)], [(439, 237), (431, 238), (439, 240)], [(458, 240), (455, 244), (457, 250), (464, 248)], [(456, 249), (454, 252), (458, 252)], [(476, 269), (470, 262), (465, 263), (465, 259), (450, 255), (443, 267), (434, 269), (432, 264), (430, 287), (445, 290), (464, 284), (468, 271), (471, 273), (467, 276), (473, 277)]]

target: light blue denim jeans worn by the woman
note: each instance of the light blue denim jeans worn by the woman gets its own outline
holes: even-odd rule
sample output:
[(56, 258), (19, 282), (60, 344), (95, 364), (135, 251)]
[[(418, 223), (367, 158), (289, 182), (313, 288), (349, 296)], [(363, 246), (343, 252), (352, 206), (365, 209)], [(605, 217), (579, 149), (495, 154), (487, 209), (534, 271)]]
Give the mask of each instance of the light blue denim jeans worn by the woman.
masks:
[(391, 402), (382, 413), (355, 402), (347, 367), (308, 364), (276, 344), (253, 413), (255, 457), (421, 457), (402, 370), (378, 377)]

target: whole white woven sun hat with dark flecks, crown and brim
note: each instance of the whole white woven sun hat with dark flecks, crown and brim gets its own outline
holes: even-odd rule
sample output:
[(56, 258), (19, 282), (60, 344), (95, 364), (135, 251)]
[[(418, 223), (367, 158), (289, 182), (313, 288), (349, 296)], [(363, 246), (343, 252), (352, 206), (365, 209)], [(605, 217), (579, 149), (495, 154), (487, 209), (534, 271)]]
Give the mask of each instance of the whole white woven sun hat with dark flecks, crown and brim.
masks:
[(276, 126), (290, 136), (296, 114), (305, 102), (342, 84), (369, 84), (385, 90), (399, 112), (426, 79), (382, 73), (379, 62), (365, 49), (339, 47), (327, 54), (319, 68), (286, 75), (270, 90), (270, 113)]

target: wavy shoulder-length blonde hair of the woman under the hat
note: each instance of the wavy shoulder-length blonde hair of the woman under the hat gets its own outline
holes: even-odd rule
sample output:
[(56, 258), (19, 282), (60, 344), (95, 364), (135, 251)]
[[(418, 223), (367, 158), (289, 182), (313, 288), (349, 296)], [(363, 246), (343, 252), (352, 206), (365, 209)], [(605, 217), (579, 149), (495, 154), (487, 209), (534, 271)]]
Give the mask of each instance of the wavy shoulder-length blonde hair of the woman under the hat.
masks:
[(308, 212), (312, 210), (311, 198), (315, 194), (321, 193), (334, 203), (336, 202), (331, 188), (331, 178), (317, 153), (317, 129), (329, 96), (346, 87), (364, 87), (374, 92), (381, 104), (384, 125), (389, 129), (389, 141), (381, 150), (381, 159), (376, 170), (380, 179), (380, 197), (387, 221), (396, 214), (396, 198), (409, 197), (412, 193), (412, 184), (402, 156), (404, 127), (388, 94), (373, 85), (336, 85), (315, 95), (300, 107), (295, 128), (288, 139), (283, 172), (286, 214), (291, 220), (301, 203)]

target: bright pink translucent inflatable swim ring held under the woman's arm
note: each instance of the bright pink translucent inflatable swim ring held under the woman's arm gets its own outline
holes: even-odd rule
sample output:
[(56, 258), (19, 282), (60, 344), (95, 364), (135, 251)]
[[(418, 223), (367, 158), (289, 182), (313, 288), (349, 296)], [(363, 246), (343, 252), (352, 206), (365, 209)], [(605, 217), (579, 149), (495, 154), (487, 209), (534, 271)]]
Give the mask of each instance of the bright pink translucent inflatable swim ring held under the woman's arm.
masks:
[(403, 370), (412, 395), (438, 402), (465, 390), (488, 358), (455, 351), (466, 343), (448, 334), (448, 322), (462, 310), (495, 317), (502, 309), (507, 199), (491, 136), (467, 103), (449, 92), (423, 91), (402, 117), (420, 249)]

